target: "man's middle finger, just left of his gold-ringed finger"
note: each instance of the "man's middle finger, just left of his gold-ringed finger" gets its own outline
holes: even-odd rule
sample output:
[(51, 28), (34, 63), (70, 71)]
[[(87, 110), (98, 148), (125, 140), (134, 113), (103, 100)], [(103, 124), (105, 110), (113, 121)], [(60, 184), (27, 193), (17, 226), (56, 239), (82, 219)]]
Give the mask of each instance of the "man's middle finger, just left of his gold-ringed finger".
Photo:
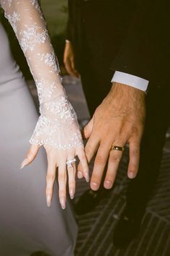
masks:
[(97, 155), (94, 161), (94, 169), (90, 183), (90, 187), (93, 190), (99, 189), (99, 186), (101, 184), (102, 176), (104, 173), (104, 167), (106, 166), (107, 159), (109, 156), (110, 147), (111, 143), (105, 141), (99, 145), (99, 150), (97, 151)]

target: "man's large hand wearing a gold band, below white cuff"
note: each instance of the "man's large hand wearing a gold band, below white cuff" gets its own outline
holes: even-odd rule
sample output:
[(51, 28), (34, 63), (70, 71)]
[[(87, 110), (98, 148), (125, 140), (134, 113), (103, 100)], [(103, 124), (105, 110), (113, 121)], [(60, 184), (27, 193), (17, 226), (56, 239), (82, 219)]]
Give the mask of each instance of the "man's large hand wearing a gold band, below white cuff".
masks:
[[(96, 109), (89, 124), (84, 128), (86, 156), (88, 161), (97, 153), (91, 177), (91, 189), (99, 189), (108, 160), (104, 187), (111, 189), (122, 158), (122, 151), (111, 150), (112, 145), (123, 147), (129, 144), (130, 161), (128, 177), (138, 173), (140, 141), (146, 116), (145, 93), (133, 87), (114, 83), (109, 94)], [(83, 176), (81, 165), (78, 176)]]

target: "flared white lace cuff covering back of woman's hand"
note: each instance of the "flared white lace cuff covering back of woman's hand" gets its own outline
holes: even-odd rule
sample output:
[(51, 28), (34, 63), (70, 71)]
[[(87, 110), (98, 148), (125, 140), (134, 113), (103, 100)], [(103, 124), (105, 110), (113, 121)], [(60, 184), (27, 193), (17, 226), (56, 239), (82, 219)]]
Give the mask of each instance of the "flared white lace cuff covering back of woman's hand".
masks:
[(57, 101), (42, 103), (40, 114), (31, 143), (53, 145), (58, 149), (83, 147), (76, 113), (65, 95), (58, 96)]

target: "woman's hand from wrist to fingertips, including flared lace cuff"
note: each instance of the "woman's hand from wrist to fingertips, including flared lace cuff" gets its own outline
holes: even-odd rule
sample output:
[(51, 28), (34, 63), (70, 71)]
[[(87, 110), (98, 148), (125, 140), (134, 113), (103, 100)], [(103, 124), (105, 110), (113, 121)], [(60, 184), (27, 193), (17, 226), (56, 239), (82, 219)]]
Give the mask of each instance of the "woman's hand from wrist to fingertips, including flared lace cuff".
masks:
[[(78, 156), (83, 175), (86, 182), (89, 182), (89, 166), (84, 153), (84, 145), (76, 119), (76, 113), (69, 103), (66, 95), (59, 95), (40, 106), (40, 117), (37, 121), (35, 131), (30, 140), (31, 147), (21, 168), (31, 163), (40, 148), (44, 145), (48, 158), (47, 205), (53, 196), (53, 184), (55, 182), (56, 168), (58, 168), (59, 198), (62, 208), (66, 208), (66, 182), (68, 176), (68, 188), (71, 199), (75, 193), (76, 163)], [(67, 161), (72, 163), (69, 165)]]

